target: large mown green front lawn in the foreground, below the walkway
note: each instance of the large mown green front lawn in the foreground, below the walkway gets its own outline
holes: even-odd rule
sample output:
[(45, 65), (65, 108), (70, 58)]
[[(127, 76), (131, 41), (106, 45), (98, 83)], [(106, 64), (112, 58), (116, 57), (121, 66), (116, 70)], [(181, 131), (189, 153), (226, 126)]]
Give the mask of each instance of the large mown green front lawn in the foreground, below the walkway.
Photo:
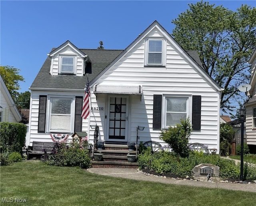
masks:
[[(254, 192), (113, 178), (39, 161), (17, 162), (0, 170), (1, 206), (251, 206), (256, 202)], [(26, 199), (26, 203), (3, 202), (4, 198)]]

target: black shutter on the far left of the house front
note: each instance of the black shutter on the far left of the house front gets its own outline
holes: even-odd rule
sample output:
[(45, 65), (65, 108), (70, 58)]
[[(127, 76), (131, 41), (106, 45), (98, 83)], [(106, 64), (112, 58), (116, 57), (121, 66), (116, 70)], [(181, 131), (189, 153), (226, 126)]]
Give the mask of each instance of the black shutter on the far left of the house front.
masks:
[(39, 96), (38, 133), (45, 133), (47, 96)]

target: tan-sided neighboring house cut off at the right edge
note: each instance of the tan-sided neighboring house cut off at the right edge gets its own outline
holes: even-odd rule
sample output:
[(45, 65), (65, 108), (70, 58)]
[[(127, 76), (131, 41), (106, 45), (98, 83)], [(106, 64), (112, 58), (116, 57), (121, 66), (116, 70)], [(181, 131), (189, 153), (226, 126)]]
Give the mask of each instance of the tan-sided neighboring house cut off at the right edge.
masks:
[(256, 49), (248, 60), (251, 64), (252, 75), (250, 79), (250, 90), (247, 95), (249, 100), (244, 104), (246, 107), (246, 136), (250, 152), (256, 152)]

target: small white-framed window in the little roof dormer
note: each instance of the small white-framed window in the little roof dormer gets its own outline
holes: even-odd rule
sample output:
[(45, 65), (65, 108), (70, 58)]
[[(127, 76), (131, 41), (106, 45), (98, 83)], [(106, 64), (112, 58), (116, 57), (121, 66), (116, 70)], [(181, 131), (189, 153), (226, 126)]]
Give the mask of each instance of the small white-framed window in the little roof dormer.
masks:
[(75, 55), (59, 55), (59, 74), (76, 74)]

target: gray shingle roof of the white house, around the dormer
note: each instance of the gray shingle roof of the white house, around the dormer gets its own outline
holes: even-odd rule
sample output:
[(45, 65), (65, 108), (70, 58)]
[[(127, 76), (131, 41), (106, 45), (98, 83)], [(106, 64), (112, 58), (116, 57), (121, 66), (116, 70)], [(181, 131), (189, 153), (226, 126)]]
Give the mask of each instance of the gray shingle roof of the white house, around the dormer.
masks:
[[(54, 50), (54, 48), (53, 48)], [(92, 62), (92, 74), (88, 74), (89, 82), (92, 81), (104, 68), (106, 68), (123, 50), (105, 49), (80, 49), (89, 56)], [(196, 51), (187, 51), (188, 54), (202, 66)], [(86, 76), (75, 75), (50, 75), (51, 61), (46, 58), (42, 68), (38, 72), (34, 82), (30, 86), (33, 88), (56, 88), (56, 89), (81, 89), (86, 85)]]

